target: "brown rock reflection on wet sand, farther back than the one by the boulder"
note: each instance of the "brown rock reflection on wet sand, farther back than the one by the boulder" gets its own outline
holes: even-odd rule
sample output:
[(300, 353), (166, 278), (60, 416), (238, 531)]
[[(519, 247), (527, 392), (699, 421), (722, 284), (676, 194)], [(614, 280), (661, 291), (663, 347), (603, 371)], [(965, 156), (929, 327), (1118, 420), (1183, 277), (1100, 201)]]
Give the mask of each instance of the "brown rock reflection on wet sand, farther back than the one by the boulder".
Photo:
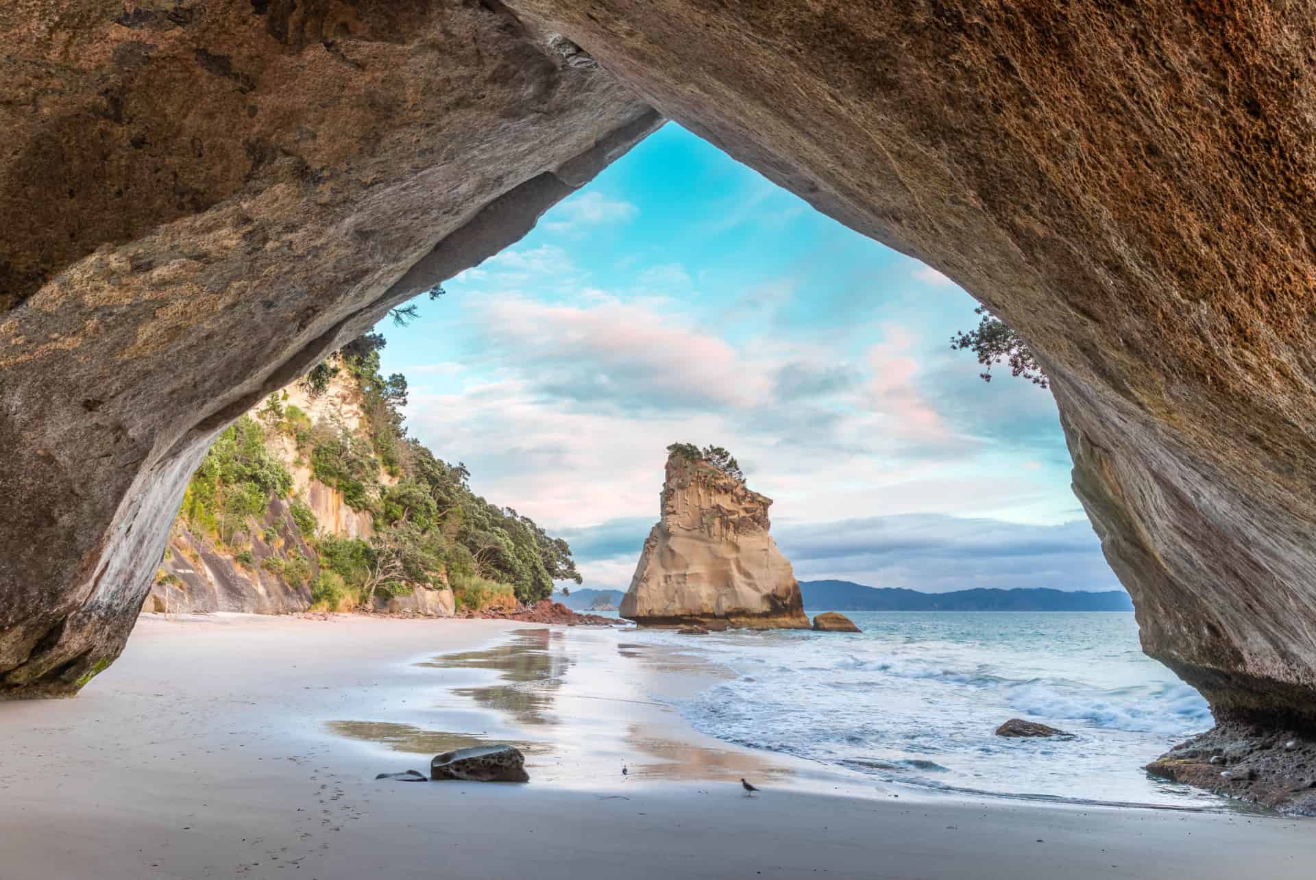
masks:
[(512, 642), (480, 651), (462, 651), (420, 663), (438, 670), (496, 670), (511, 684), (454, 688), (453, 693), (471, 697), (490, 709), (505, 712), (522, 723), (557, 723), (549, 712), (571, 666), (566, 654), (566, 634), (549, 629), (512, 633)]

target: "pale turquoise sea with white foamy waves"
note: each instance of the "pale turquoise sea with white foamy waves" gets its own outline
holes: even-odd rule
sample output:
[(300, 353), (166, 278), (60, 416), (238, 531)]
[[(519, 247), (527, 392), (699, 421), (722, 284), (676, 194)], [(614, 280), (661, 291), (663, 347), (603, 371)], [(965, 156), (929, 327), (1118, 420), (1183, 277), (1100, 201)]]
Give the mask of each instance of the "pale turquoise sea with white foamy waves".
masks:
[[(875, 779), (1001, 794), (1200, 804), (1142, 764), (1211, 726), (1132, 613), (854, 612), (861, 634), (628, 633), (730, 676), (672, 705), (700, 731)], [(1007, 718), (1070, 741), (1004, 739)]]

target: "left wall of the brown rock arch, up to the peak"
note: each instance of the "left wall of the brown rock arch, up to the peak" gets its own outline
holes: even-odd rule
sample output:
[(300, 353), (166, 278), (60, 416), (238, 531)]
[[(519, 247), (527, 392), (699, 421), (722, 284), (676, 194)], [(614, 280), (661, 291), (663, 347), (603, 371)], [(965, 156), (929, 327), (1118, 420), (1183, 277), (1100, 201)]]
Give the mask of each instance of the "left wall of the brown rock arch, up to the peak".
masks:
[(0, 697), (117, 656), (236, 416), (659, 122), (500, 3), (0, 8)]

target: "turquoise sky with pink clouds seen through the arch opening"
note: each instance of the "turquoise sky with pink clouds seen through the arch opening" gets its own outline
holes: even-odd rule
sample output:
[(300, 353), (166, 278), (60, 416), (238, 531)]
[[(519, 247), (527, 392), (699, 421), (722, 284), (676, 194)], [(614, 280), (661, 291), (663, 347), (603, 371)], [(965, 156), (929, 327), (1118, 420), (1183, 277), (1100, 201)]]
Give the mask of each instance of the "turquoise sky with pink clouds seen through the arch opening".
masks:
[(775, 499), (801, 580), (1117, 588), (1049, 392), (950, 350), (975, 303), (675, 124), (445, 288), (379, 325), (409, 429), (587, 587), (625, 589), (688, 441)]

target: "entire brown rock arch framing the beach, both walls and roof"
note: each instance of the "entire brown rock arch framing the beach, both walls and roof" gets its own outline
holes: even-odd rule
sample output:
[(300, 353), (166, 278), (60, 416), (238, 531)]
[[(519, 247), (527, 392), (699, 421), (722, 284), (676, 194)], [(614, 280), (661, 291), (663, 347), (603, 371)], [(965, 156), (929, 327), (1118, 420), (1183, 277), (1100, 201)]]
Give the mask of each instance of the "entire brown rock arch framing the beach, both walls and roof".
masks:
[(0, 12), (0, 693), (117, 654), (232, 414), (661, 112), (1029, 337), (1145, 650), (1316, 727), (1304, 4), (42, 5)]

